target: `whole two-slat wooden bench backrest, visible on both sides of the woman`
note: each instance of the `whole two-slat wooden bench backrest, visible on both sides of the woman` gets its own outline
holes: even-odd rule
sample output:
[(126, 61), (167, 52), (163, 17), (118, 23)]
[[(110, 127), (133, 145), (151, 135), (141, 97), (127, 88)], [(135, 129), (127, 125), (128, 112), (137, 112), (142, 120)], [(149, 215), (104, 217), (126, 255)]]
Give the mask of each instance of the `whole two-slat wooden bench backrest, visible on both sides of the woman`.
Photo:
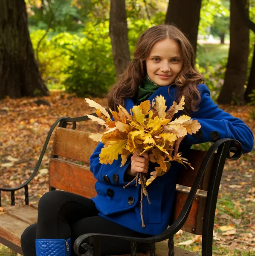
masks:
[[(91, 140), (90, 133), (84, 131), (75, 131), (66, 128), (57, 128), (52, 148), (52, 158), (49, 164), (49, 186), (87, 198), (96, 196), (94, 185), (96, 179), (90, 172), (89, 158), (96, 148), (97, 142)], [(194, 167), (187, 169), (183, 166), (181, 170), (175, 198), (174, 214), (176, 219), (183, 208), (188, 196), (188, 187), (191, 187), (196, 174), (200, 168), (206, 151), (190, 150), (188, 155), (189, 163)], [(58, 157), (64, 157), (61, 159)], [(71, 160), (70, 160), (71, 159)], [(78, 161), (74, 163), (72, 160)], [(193, 234), (202, 234), (203, 215), (206, 204), (206, 191), (208, 188), (210, 172), (213, 159), (209, 163), (202, 182), (200, 183), (200, 192), (197, 193), (188, 219), (182, 227), (182, 230)], [(185, 187), (183, 187), (185, 186)]]

